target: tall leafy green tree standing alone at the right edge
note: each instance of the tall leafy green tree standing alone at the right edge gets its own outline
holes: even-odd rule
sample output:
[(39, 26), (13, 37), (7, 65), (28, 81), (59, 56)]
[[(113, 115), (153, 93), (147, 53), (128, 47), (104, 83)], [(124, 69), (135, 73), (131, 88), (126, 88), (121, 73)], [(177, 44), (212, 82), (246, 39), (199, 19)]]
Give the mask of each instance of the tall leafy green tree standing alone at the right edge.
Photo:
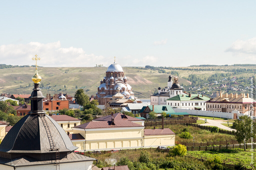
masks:
[(246, 151), (248, 140), (256, 135), (256, 122), (247, 115), (239, 116), (239, 119), (234, 122), (234, 128), (237, 130), (236, 138), (239, 143), (244, 143), (244, 151)]

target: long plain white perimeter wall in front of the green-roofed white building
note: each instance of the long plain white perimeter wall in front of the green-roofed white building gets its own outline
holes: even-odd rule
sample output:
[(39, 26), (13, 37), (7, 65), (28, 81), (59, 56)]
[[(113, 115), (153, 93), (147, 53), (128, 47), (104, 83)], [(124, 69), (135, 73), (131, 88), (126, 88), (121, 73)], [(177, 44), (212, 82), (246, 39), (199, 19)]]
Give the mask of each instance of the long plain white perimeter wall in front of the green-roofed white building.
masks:
[(212, 111), (206, 111), (206, 110), (191, 110), (191, 109), (178, 109), (173, 108), (175, 112), (186, 112), (191, 115), (198, 115), (198, 116), (211, 116), (211, 117), (221, 117), (221, 118), (227, 118), (227, 115), (229, 119), (234, 119), (233, 113), (226, 113), (226, 112), (214, 112)]

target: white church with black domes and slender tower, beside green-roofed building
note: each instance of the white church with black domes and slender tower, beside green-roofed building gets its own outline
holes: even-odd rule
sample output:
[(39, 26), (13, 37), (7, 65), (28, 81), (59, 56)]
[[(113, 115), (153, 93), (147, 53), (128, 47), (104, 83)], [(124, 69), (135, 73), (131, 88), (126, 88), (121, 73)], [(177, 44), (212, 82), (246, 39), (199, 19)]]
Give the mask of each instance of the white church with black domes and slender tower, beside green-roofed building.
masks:
[(178, 76), (174, 76), (174, 83), (172, 81), (172, 76), (169, 75), (169, 80), (167, 82), (167, 87), (158, 87), (158, 93), (150, 96), (150, 105), (166, 105), (167, 99), (180, 94), (188, 94), (182, 91), (178, 83)]

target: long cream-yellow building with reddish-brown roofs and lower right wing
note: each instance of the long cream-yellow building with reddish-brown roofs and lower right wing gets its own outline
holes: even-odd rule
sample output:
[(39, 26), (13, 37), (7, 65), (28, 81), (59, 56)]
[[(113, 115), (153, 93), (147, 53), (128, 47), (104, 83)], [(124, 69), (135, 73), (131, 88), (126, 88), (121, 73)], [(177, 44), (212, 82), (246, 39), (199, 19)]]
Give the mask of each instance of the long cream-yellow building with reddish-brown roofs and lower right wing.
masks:
[(120, 113), (72, 129), (69, 138), (81, 152), (175, 145), (175, 133), (169, 128), (144, 129), (144, 121)]

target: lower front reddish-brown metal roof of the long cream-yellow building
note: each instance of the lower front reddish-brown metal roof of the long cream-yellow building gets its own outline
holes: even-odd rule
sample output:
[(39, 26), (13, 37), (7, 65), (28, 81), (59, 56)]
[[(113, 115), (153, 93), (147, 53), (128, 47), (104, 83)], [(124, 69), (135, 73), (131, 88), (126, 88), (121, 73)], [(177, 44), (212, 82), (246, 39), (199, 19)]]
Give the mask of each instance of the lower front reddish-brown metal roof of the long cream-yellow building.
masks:
[(84, 123), (75, 128), (82, 128), (82, 129), (94, 129), (94, 128), (112, 128), (112, 127), (144, 127), (140, 124), (133, 123), (130, 121), (116, 121), (114, 120), (114, 124), (111, 121), (94, 121)]

